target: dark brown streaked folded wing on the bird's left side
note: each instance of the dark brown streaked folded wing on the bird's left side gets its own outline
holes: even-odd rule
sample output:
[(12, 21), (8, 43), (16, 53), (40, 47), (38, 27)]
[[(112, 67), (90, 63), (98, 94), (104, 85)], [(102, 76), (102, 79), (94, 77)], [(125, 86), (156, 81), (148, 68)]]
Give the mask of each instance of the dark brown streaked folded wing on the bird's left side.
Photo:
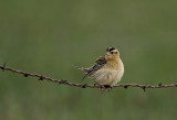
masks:
[(87, 69), (86, 75), (82, 78), (82, 80), (87, 77), (91, 76), (93, 73), (95, 73), (96, 70), (98, 70), (100, 68), (102, 68), (104, 65), (106, 64), (106, 59), (104, 56), (100, 56), (96, 61), (95, 64)]

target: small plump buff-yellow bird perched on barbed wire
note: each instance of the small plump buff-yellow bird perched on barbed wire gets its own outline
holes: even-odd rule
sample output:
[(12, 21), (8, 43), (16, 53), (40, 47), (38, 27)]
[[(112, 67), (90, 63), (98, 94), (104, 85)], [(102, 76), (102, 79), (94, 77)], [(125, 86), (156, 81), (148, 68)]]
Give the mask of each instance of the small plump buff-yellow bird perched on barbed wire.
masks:
[(91, 77), (95, 84), (102, 86), (102, 88), (104, 86), (112, 88), (121, 81), (124, 74), (124, 64), (119, 58), (119, 52), (114, 47), (108, 47), (106, 54), (98, 57), (92, 67), (84, 68), (76, 66), (76, 68), (85, 72), (83, 79)]

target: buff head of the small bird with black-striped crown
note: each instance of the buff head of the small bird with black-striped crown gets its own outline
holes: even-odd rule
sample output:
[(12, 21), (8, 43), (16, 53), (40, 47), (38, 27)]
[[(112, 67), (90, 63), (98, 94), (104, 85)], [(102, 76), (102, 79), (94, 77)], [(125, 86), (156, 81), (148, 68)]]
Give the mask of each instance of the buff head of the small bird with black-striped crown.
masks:
[(116, 50), (114, 47), (108, 47), (106, 50), (105, 59), (106, 61), (115, 61), (117, 58), (119, 58), (119, 52), (118, 52), (118, 50)]

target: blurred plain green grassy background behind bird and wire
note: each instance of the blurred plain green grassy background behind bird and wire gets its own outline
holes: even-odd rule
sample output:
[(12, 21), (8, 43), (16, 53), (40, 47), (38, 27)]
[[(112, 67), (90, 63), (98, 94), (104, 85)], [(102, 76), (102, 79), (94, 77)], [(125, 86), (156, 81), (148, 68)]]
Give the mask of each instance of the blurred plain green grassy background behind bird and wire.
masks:
[[(177, 83), (176, 0), (1, 0), (0, 64), (72, 83), (108, 46), (119, 84)], [(82, 89), (0, 72), (0, 120), (176, 120), (176, 88)]]

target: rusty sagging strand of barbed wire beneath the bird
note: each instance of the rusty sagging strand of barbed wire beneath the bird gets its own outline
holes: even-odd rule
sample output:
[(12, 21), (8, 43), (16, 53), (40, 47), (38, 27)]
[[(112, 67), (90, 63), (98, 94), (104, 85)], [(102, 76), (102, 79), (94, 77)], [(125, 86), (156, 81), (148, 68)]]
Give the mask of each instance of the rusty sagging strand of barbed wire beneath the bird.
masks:
[[(75, 87), (81, 87), (81, 88), (101, 88), (101, 89), (103, 87), (103, 86), (96, 85), (96, 84), (94, 84), (94, 85), (75, 84), (75, 83), (70, 83), (67, 80), (63, 80), (63, 79), (52, 79), (52, 78), (45, 77), (43, 75), (31, 74), (31, 73), (27, 73), (27, 72), (23, 72), (23, 70), (17, 70), (17, 69), (7, 67), (6, 63), (2, 66), (0, 65), (0, 68), (2, 69), (2, 72), (9, 70), (9, 72), (12, 72), (12, 73), (21, 74), (24, 77), (29, 77), (29, 76), (37, 77), (39, 80), (46, 79), (46, 80), (50, 80), (50, 81), (53, 81), (53, 83), (59, 83), (60, 85), (63, 84), (63, 85), (75, 86)], [(110, 88), (110, 86), (104, 86), (104, 87), (105, 88)], [(145, 91), (146, 88), (169, 88), (169, 87), (177, 87), (177, 84), (169, 84), (169, 85), (163, 85), (162, 83), (158, 84), (158, 85), (119, 84), (119, 85), (113, 86), (113, 88), (115, 88), (115, 87), (124, 87), (124, 88), (138, 87), (138, 88), (143, 88), (143, 90)]]

